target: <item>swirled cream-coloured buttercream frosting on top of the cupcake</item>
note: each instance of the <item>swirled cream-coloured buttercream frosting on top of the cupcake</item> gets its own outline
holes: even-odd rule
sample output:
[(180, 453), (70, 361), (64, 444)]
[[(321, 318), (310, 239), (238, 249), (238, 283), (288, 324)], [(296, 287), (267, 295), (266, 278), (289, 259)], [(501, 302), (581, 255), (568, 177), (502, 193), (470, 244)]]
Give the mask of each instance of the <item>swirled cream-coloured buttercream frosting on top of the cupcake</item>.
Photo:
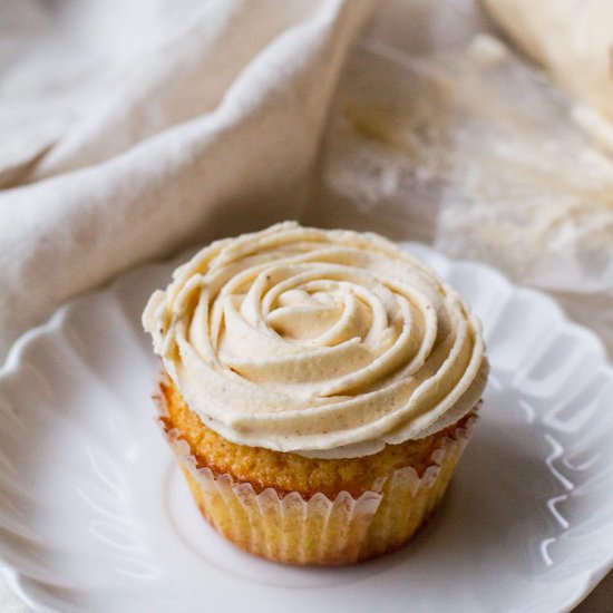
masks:
[(458, 293), (371, 233), (286, 222), (216, 241), (143, 322), (206, 426), (311, 457), (426, 437), (474, 409), (487, 379)]

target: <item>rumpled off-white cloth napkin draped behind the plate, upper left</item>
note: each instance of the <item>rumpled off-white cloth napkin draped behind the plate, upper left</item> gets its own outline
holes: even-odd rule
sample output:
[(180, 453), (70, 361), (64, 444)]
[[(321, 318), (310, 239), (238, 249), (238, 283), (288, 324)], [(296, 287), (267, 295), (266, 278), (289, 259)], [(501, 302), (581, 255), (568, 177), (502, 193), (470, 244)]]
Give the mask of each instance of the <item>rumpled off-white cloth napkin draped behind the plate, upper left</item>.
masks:
[(0, 360), (66, 299), (296, 215), (366, 0), (7, 0)]

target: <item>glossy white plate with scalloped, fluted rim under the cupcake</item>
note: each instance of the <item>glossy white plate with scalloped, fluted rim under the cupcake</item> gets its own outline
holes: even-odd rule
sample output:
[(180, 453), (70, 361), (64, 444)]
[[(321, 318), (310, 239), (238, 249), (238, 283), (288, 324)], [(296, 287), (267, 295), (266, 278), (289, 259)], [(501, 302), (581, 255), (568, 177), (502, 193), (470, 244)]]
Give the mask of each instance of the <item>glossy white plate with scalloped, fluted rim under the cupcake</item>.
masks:
[(492, 269), (411, 245), (480, 315), (483, 416), (434, 520), (346, 568), (244, 554), (201, 519), (156, 424), (140, 311), (173, 264), (61, 309), (0, 373), (0, 557), (40, 611), (552, 612), (613, 564), (613, 372), (600, 342)]

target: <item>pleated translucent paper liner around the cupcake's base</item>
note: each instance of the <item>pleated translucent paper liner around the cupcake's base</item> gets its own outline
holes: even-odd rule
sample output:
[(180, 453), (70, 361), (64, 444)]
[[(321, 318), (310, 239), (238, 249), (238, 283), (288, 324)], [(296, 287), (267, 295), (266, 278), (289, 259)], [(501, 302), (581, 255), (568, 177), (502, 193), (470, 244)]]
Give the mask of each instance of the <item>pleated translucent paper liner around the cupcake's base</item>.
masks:
[[(155, 399), (165, 417), (164, 395)], [(442, 439), (421, 477), (408, 466), (378, 479), (358, 498), (341, 492), (334, 499), (321, 493), (304, 499), (298, 492), (280, 494), (271, 487), (257, 493), (228, 474), (198, 468), (181, 432), (162, 419), (160, 425), (202, 514), (215, 529), (269, 560), (335, 565), (396, 549), (417, 532), (440, 503), (475, 421)]]

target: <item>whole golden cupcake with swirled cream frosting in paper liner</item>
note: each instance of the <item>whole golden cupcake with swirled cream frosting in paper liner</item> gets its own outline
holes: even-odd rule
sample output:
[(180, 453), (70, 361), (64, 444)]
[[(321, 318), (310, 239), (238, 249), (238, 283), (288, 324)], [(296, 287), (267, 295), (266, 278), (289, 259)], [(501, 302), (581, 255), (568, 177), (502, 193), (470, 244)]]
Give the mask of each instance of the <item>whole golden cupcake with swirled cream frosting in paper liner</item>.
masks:
[(216, 241), (145, 309), (165, 437), (211, 525), (293, 564), (401, 546), (439, 505), (487, 380), (478, 321), (371, 233)]

